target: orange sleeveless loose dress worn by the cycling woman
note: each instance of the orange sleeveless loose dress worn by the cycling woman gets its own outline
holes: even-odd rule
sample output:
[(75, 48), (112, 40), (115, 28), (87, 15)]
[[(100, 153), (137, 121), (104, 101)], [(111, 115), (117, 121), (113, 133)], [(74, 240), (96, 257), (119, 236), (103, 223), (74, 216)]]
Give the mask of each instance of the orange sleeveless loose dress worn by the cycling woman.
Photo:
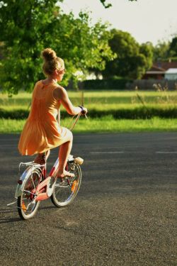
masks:
[(57, 87), (56, 83), (44, 85), (42, 81), (35, 84), (30, 113), (18, 143), (21, 155), (44, 153), (70, 139), (71, 131), (57, 123), (60, 102), (53, 97)]

